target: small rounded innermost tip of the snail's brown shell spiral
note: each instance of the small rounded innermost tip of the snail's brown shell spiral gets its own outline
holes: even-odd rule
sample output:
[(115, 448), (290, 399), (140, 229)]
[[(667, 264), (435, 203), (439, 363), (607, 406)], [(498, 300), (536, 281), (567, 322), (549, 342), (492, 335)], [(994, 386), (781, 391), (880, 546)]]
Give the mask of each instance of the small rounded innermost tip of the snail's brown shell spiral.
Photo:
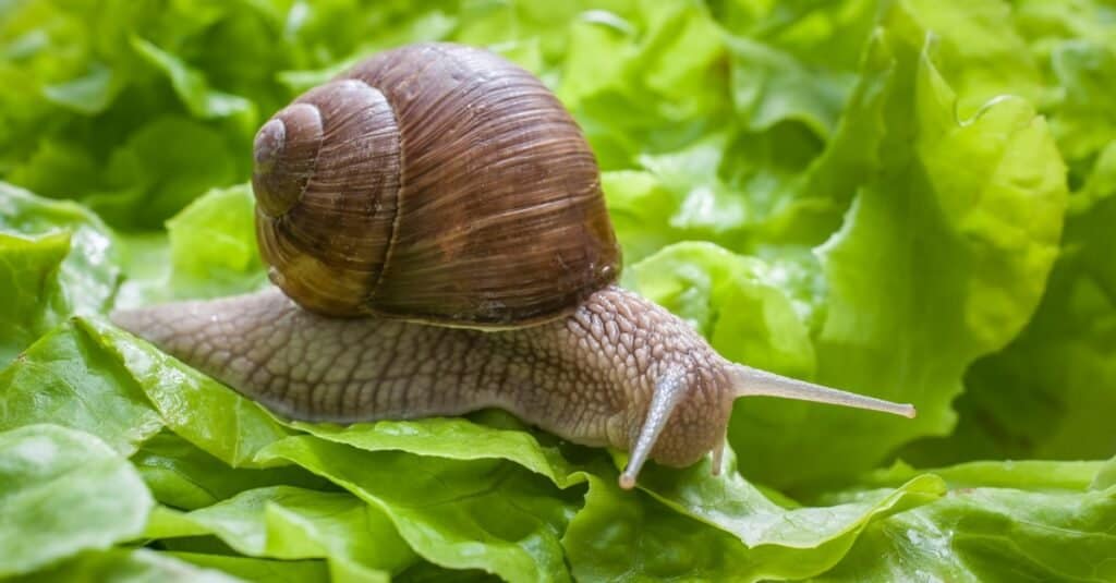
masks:
[(256, 133), (252, 190), (263, 214), (279, 217), (298, 203), (314, 175), (321, 137), (321, 114), (306, 103), (283, 108)]

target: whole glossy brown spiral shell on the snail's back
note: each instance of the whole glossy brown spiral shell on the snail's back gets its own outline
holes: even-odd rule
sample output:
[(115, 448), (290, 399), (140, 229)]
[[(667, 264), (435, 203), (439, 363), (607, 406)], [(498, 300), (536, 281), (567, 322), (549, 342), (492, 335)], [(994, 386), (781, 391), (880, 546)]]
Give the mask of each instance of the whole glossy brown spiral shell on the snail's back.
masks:
[(537, 78), (484, 50), (377, 55), (277, 113), (254, 161), (260, 249), (316, 312), (529, 324), (619, 273), (580, 130)]

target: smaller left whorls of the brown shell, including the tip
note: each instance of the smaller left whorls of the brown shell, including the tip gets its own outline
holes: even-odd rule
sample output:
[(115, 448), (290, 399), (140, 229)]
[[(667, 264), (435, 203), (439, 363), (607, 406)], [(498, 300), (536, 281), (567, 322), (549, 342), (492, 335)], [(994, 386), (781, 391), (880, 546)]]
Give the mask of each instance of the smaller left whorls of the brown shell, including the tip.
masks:
[(260, 128), (254, 160), (271, 279), (315, 312), (365, 313), (400, 190), (400, 132), (384, 94), (359, 79), (307, 92)]

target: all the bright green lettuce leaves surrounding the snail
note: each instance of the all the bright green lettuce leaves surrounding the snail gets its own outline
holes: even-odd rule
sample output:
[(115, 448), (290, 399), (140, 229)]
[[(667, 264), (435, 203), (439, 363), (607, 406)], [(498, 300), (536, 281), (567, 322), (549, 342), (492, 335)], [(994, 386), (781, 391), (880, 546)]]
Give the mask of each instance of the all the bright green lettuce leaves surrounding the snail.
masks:
[[(745, 400), (723, 477), (626, 493), (498, 411), (287, 423), (107, 323), (264, 285), (254, 130), (417, 40), (558, 94), (624, 285), (918, 418)], [(0, 0), (0, 579), (1116, 580), (1110, 0)]]

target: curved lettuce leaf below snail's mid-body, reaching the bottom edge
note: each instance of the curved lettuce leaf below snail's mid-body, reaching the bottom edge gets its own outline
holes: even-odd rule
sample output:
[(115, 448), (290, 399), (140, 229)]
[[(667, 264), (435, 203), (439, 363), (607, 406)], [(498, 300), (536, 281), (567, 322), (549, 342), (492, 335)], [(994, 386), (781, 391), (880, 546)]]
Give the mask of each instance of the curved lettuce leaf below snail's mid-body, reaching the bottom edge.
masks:
[(306, 467), (386, 513), (424, 558), (482, 568), (511, 581), (568, 580), (559, 537), (574, 501), (543, 479), (503, 462), (363, 452), (292, 437), (263, 452)]

